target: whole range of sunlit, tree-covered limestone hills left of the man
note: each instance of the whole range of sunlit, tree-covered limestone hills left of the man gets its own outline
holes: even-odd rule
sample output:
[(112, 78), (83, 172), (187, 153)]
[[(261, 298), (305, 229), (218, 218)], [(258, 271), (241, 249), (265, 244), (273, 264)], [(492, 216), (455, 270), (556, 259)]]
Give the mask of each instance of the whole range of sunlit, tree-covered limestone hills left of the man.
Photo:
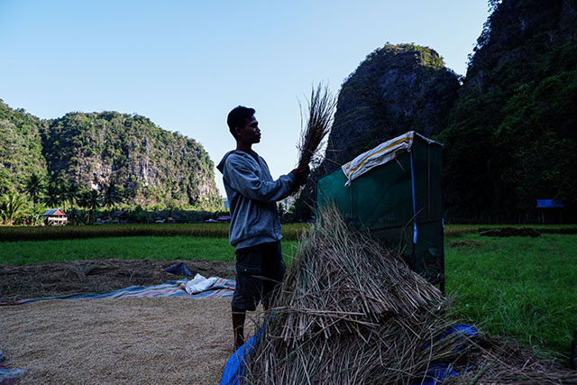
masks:
[(23, 191), (32, 172), (60, 186), (114, 185), (128, 205), (222, 208), (203, 147), (141, 115), (70, 113), (41, 121), (0, 104), (0, 193)]

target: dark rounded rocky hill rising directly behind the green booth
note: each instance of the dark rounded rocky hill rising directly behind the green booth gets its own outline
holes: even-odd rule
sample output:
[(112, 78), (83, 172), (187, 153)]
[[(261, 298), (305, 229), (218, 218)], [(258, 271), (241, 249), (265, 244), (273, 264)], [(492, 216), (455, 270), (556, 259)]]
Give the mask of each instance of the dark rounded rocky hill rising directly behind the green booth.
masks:
[(439, 133), (458, 89), (435, 50), (412, 44), (375, 50), (343, 83), (321, 172), (401, 133)]

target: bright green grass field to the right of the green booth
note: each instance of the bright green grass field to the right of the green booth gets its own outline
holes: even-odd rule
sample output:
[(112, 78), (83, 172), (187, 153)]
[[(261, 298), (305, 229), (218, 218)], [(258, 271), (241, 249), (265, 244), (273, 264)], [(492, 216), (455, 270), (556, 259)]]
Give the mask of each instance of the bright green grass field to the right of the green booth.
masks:
[[(451, 247), (452, 241), (474, 243)], [(576, 235), (467, 234), (447, 243), (446, 291), (456, 299), (456, 316), (490, 335), (520, 339), (537, 353), (569, 353), (577, 328)]]

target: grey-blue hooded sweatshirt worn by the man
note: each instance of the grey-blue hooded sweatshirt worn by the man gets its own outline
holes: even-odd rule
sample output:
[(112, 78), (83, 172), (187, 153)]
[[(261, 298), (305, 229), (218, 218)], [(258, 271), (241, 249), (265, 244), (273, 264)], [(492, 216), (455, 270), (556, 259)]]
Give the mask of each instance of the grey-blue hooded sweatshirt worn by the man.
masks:
[(234, 249), (276, 242), (280, 235), (277, 201), (289, 197), (295, 176), (273, 180), (269, 166), (259, 154), (229, 151), (216, 166), (223, 173), (224, 189), (231, 209), (229, 242)]

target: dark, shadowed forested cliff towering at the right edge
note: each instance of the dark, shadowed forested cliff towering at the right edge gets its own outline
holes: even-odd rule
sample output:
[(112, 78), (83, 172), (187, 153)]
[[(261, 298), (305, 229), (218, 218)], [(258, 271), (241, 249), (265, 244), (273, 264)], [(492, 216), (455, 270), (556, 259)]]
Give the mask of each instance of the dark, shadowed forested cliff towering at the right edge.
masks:
[[(577, 40), (563, 2), (490, 2), (446, 130), (453, 222), (530, 223), (536, 199), (577, 217)], [(499, 4), (500, 3), (500, 4)]]

